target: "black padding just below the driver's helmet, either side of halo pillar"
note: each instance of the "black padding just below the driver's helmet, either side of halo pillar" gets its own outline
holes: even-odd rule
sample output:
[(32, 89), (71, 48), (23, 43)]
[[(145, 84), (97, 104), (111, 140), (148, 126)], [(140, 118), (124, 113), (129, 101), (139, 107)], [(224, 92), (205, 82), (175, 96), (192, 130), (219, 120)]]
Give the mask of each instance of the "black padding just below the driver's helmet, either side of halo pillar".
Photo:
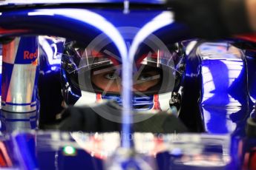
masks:
[[(111, 104), (111, 103), (106, 103)], [(103, 107), (99, 105), (96, 107)], [(100, 108), (97, 108), (100, 109)], [(82, 132), (121, 132), (121, 124), (102, 118), (94, 112), (95, 107), (70, 106), (65, 110), (64, 120), (60, 123), (59, 129), (63, 131)], [(121, 111), (119, 110), (119, 114)], [(134, 123), (135, 132), (173, 133), (188, 132), (186, 126), (174, 115), (164, 112), (149, 116), (150, 113), (136, 113), (143, 118), (148, 118), (139, 123)]]

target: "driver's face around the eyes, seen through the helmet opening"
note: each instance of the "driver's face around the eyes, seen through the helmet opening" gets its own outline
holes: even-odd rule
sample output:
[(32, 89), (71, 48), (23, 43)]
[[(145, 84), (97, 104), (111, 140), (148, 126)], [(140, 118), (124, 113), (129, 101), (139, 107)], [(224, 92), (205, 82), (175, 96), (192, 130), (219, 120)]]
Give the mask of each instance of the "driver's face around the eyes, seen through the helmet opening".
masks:
[[(116, 68), (99, 69), (92, 73), (91, 81), (105, 92), (121, 92), (121, 78)], [(134, 74), (134, 92), (145, 92), (160, 82), (160, 74), (154, 70), (142, 70)]]

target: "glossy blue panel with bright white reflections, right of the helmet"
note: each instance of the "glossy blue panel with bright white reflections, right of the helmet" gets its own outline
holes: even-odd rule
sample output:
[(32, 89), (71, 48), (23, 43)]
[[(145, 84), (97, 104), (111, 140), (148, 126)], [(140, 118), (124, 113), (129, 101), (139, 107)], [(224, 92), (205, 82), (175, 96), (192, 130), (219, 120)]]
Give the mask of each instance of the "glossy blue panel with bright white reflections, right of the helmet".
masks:
[[(237, 125), (244, 125), (244, 120), (252, 112), (252, 105), (249, 106), (246, 56), (241, 53), (237, 57), (227, 52), (229, 46), (226, 42), (200, 46), (203, 80), (200, 105), (206, 132), (225, 134), (237, 128), (239, 135), (244, 136), (244, 129)], [(207, 55), (203, 55), (203, 52), (207, 52)]]

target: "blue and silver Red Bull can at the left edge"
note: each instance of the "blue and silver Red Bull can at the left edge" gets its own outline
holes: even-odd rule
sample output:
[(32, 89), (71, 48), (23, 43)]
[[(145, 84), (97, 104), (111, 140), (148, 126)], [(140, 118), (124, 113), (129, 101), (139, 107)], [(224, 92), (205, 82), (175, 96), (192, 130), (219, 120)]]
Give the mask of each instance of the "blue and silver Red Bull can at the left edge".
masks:
[[(17, 47), (13, 47), (10, 50), (15, 51), (13, 53), (13, 56), (10, 56), (10, 58), (13, 58), (13, 61), (8, 61), (10, 63), (7, 62), (2, 62), (2, 67), (3, 67), (3, 94), (1, 96), (1, 105), (2, 110), (1, 110), (1, 120), (2, 120), (2, 124), (1, 124), (1, 130), (7, 130), (7, 124), (8, 123), (13, 123), (13, 122), (17, 122), (17, 123), (22, 123), (22, 122), (29, 122), (30, 123), (30, 128), (31, 129), (36, 129), (37, 127), (37, 120), (39, 118), (39, 98), (38, 98), (38, 86), (37, 86), (37, 82), (38, 82), (38, 77), (39, 77), (39, 67), (38, 67), (38, 39), (35, 36), (27, 36), (27, 37), (22, 37), (19, 39), (19, 44), (17, 44)], [(7, 52), (7, 51), (5, 51)], [(30, 80), (31, 82), (26, 82), (26, 84), (22, 84), (18, 81), (13, 81), (13, 78), (15, 78), (17, 72), (13, 73), (13, 68), (14, 66), (18, 64), (18, 65), (24, 65), (26, 66), (27, 64), (33, 65), (34, 67), (36, 67), (36, 73), (35, 73), (35, 77), (34, 79)], [(26, 69), (24, 69), (26, 71)], [(24, 78), (26, 78), (26, 74), (30, 73), (30, 72), (24, 72)], [(13, 81), (13, 84), (10, 85), (10, 81)], [(27, 79), (29, 80), (29, 79)], [(15, 84), (15, 85), (14, 85)], [(10, 98), (13, 98), (13, 96), (8, 96), (10, 94), (7, 94), (9, 87), (10, 86), (22, 86), (19, 90), (22, 90), (23, 86), (30, 86), (33, 84), (33, 89), (29, 89), (28, 91), (30, 91), (32, 94), (30, 96), (31, 100), (28, 101), (29, 103), (21, 103), (21, 100), (19, 99), (19, 101), (15, 101), (15, 99), (13, 100), (13, 102), (9, 102), (8, 100), (10, 100)], [(8, 99), (8, 97), (10, 97)], [(24, 100), (24, 98), (22, 98), (22, 100)], [(4, 106), (6, 105), (10, 105), (10, 106), (30, 106), (33, 109), (30, 110), (22, 110), (19, 112), (19, 114), (27, 114), (27, 113), (36, 113), (36, 116), (30, 116), (27, 118), (19, 118), (19, 116), (17, 116), (16, 118), (5, 118), (4, 116), (4, 112), (7, 111), (10, 114), (14, 113), (16, 114), (16, 112), (10, 112), (10, 110), (5, 110)], [(33, 107), (36, 106), (36, 107)]]

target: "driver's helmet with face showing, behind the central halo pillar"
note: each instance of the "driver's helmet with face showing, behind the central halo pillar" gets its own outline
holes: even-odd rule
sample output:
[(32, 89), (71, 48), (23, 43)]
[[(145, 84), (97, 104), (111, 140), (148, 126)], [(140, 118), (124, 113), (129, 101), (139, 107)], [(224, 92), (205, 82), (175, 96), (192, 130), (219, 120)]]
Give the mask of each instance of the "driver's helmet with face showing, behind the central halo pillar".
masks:
[[(171, 49), (177, 46), (171, 44)], [(114, 44), (96, 50), (76, 41), (65, 42), (61, 73), (66, 106), (92, 106), (106, 100), (122, 106), (123, 63), (114, 49)], [(183, 67), (177, 50), (140, 46), (134, 56), (133, 108), (143, 112), (174, 112), (170, 103), (177, 101), (173, 92), (177, 94), (180, 89)]]

